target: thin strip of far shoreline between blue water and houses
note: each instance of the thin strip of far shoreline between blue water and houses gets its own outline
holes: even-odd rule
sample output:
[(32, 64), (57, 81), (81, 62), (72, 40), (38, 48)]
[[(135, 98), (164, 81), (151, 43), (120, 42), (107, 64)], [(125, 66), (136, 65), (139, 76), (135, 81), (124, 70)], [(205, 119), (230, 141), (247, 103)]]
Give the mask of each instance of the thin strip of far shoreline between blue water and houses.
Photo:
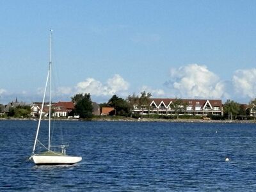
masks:
[[(33, 120), (36, 118), (0, 118), (1, 120)], [(48, 120), (48, 118), (42, 119)], [(203, 120), (203, 119), (161, 119), (161, 118), (92, 118), (90, 120), (75, 118), (56, 118), (62, 121), (88, 121), (88, 122), (170, 122), (170, 123), (218, 123), (218, 124), (256, 124), (255, 120)]]

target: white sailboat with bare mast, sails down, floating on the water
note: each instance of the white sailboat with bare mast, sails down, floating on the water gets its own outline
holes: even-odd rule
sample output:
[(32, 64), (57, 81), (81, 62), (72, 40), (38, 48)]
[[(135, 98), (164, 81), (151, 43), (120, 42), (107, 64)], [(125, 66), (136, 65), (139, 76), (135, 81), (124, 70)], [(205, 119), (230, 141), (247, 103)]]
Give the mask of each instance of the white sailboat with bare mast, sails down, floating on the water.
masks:
[[(50, 62), (49, 62), (49, 69), (47, 74), (47, 79), (45, 83), (45, 90), (44, 90), (44, 97), (42, 102), (42, 109), (38, 120), (38, 125), (36, 129), (36, 137), (35, 137), (35, 143), (33, 147), (32, 155), (29, 159), (32, 159), (35, 164), (74, 164), (78, 163), (82, 160), (82, 157), (77, 156), (68, 156), (66, 154), (66, 147), (68, 145), (51, 145), (51, 70), (52, 70), (52, 29), (50, 30)], [(48, 122), (48, 147), (45, 147), (39, 140), (38, 140), (38, 133), (40, 129), (40, 124), (42, 120), (42, 114), (45, 104), (45, 95), (47, 92), (47, 86), (49, 86), (49, 122)], [(45, 152), (36, 153), (36, 144), (40, 143), (43, 147), (46, 148)], [(54, 150), (51, 150), (52, 147), (58, 147), (61, 148), (61, 152), (56, 152)]]

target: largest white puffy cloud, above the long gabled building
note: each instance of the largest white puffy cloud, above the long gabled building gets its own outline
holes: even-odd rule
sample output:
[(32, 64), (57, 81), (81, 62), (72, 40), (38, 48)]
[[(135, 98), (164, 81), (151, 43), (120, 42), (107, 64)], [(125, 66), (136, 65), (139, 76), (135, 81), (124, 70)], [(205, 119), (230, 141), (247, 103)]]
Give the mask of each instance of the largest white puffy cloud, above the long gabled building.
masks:
[(172, 68), (170, 81), (165, 85), (175, 97), (213, 99), (225, 95), (225, 84), (205, 65), (190, 64)]

